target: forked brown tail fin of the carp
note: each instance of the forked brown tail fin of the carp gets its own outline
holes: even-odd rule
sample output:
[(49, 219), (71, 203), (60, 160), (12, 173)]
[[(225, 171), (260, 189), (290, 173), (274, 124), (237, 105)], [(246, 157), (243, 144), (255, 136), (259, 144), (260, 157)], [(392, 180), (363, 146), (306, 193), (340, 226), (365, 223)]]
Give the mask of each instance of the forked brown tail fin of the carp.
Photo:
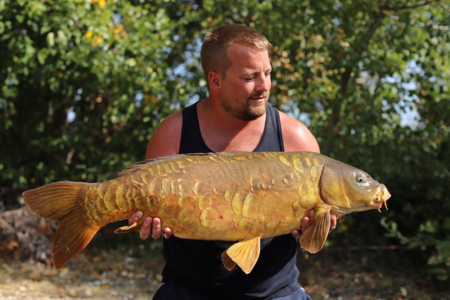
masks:
[(52, 257), (56, 269), (80, 253), (100, 229), (88, 221), (82, 209), (82, 189), (92, 183), (59, 181), (22, 193), (31, 212), (57, 220)]

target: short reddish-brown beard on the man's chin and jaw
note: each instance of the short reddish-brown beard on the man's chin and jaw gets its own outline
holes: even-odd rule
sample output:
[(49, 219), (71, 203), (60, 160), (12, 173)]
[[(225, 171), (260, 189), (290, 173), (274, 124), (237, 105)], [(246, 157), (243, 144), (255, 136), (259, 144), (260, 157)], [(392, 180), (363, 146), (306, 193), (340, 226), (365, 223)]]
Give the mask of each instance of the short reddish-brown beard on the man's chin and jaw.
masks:
[[(266, 103), (269, 98), (269, 93), (266, 92), (262, 94), (264, 96), (264, 102), (252, 104), (252, 97), (247, 98), (246, 102), (241, 104), (239, 100), (229, 100), (226, 97), (222, 97), (221, 104), (223, 109), (230, 115), (242, 120), (242, 121), (253, 121), (258, 117), (264, 115), (266, 112)], [(233, 103), (239, 103), (238, 106), (233, 106)]]

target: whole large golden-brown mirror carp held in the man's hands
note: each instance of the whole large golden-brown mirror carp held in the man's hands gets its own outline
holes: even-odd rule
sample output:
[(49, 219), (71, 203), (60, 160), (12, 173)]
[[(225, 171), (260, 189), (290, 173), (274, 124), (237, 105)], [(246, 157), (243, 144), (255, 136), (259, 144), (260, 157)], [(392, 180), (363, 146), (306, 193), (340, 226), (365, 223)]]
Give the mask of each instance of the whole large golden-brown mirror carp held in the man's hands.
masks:
[(380, 209), (390, 194), (364, 171), (319, 153), (222, 152), (159, 157), (105, 182), (59, 181), (23, 196), (30, 211), (59, 221), (52, 251), (57, 269), (101, 227), (141, 210), (181, 238), (237, 240), (224, 249), (224, 266), (249, 273), (260, 239), (289, 234), (311, 208), (314, 223), (300, 245), (314, 253), (327, 238), (330, 211)]

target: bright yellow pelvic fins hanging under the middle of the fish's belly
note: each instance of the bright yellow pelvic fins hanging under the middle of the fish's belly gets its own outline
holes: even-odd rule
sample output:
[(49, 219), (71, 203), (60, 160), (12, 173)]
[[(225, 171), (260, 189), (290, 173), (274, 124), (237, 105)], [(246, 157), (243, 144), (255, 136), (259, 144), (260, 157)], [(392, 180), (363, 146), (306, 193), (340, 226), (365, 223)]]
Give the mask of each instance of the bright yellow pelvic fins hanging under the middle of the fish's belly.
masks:
[(261, 236), (238, 241), (222, 253), (222, 262), (227, 270), (236, 264), (246, 273), (250, 273), (256, 264), (261, 249)]

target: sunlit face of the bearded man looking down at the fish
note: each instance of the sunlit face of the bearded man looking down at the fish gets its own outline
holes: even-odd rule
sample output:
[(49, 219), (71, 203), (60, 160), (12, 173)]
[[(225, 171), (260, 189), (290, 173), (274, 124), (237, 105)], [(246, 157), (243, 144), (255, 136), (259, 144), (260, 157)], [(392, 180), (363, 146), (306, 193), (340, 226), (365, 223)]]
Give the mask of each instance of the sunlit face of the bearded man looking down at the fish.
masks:
[(222, 107), (241, 120), (254, 120), (266, 112), (269, 99), (269, 53), (233, 44), (228, 47), (228, 56), (231, 65), (222, 79)]

